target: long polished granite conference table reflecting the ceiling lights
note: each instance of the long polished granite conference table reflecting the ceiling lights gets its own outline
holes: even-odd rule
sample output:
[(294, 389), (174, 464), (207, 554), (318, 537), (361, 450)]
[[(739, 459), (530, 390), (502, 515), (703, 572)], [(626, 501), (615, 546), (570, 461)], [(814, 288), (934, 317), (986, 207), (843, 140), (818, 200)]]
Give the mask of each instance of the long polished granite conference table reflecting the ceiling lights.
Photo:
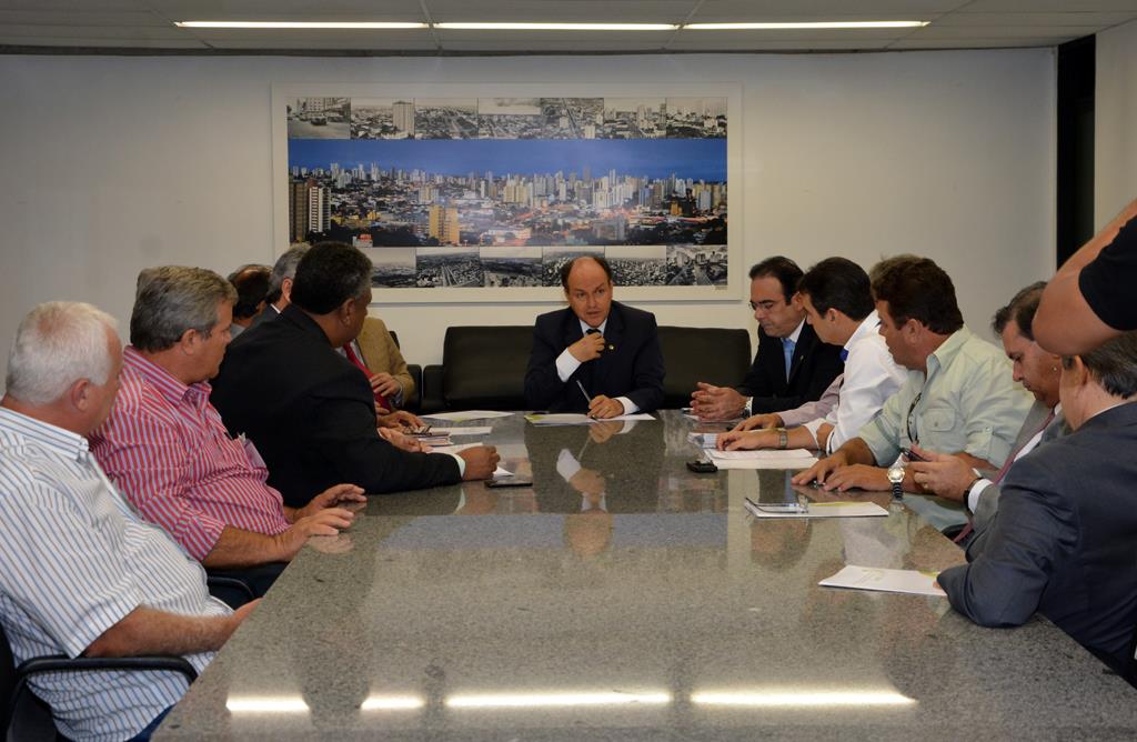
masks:
[(1137, 735), (1134, 689), (1046, 619), (981, 628), (945, 597), (818, 585), (846, 563), (962, 562), (910, 506), (929, 498), (754, 519), (745, 498), (783, 472), (692, 473), (688, 434), (715, 428), (656, 415), (472, 423), (532, 487), (370, 497), (300, 552), (156, 739)]

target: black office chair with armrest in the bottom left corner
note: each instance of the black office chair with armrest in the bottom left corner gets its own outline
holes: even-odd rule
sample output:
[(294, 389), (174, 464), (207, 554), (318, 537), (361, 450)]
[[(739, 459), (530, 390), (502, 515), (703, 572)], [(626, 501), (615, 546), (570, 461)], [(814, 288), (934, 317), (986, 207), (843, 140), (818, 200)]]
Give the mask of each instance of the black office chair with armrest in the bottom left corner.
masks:
[(33, 657), (16, 667), (8, 636), (0, 627), (0, 731), (6, 742), (41, 742), (61, 739), (51, 709), (27, 687), (27, 678), (40, 673), (100, 673), (106, 670), (169, 670), (186, 682), (198, 673), (181, 657)]

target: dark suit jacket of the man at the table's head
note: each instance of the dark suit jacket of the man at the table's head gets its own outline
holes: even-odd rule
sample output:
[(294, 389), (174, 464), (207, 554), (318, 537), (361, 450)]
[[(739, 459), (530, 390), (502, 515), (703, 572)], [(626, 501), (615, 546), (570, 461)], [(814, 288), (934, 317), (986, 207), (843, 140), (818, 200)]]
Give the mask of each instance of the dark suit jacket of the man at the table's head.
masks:
[(533, 410), (586, 412), (588, 403), (579, 379), (591, 396), (628, 397), (641, 412), (663, 404), (663, 351), (655, 315), (613, 302), (600, 357), (580, 364), (567, 381), (557, 376), (557, 356), (583, 337), (580, 320), (570, 308), (537, 318), (533, 351), (525, 371), (525, 403)]

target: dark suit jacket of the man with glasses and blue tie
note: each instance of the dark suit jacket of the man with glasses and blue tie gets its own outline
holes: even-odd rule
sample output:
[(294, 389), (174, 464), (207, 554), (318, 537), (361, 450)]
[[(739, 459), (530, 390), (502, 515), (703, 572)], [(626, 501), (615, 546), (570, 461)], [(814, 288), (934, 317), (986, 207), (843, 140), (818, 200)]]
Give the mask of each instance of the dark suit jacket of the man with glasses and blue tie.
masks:
[(758, 328), (758, 352), (754, 355), (750, 372), (736, 387), (750, 401), (750, 414), (781, 412), (820, 399), (837, 374), (845, 370), (840, 346), (822, 343), (808, 322), (794, 346), (794, 361), (786, 379), (786, 355), (781, 338), (774, 338)]

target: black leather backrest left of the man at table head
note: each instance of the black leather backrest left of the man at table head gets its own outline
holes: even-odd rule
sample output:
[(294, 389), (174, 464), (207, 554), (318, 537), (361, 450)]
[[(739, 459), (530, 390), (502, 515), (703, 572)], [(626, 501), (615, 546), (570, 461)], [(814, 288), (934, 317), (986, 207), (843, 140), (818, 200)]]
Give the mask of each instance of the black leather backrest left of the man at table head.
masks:
[(533, 327), (451, 327), (442, 344), (442, 396), (451, 410), (524, 410)]

